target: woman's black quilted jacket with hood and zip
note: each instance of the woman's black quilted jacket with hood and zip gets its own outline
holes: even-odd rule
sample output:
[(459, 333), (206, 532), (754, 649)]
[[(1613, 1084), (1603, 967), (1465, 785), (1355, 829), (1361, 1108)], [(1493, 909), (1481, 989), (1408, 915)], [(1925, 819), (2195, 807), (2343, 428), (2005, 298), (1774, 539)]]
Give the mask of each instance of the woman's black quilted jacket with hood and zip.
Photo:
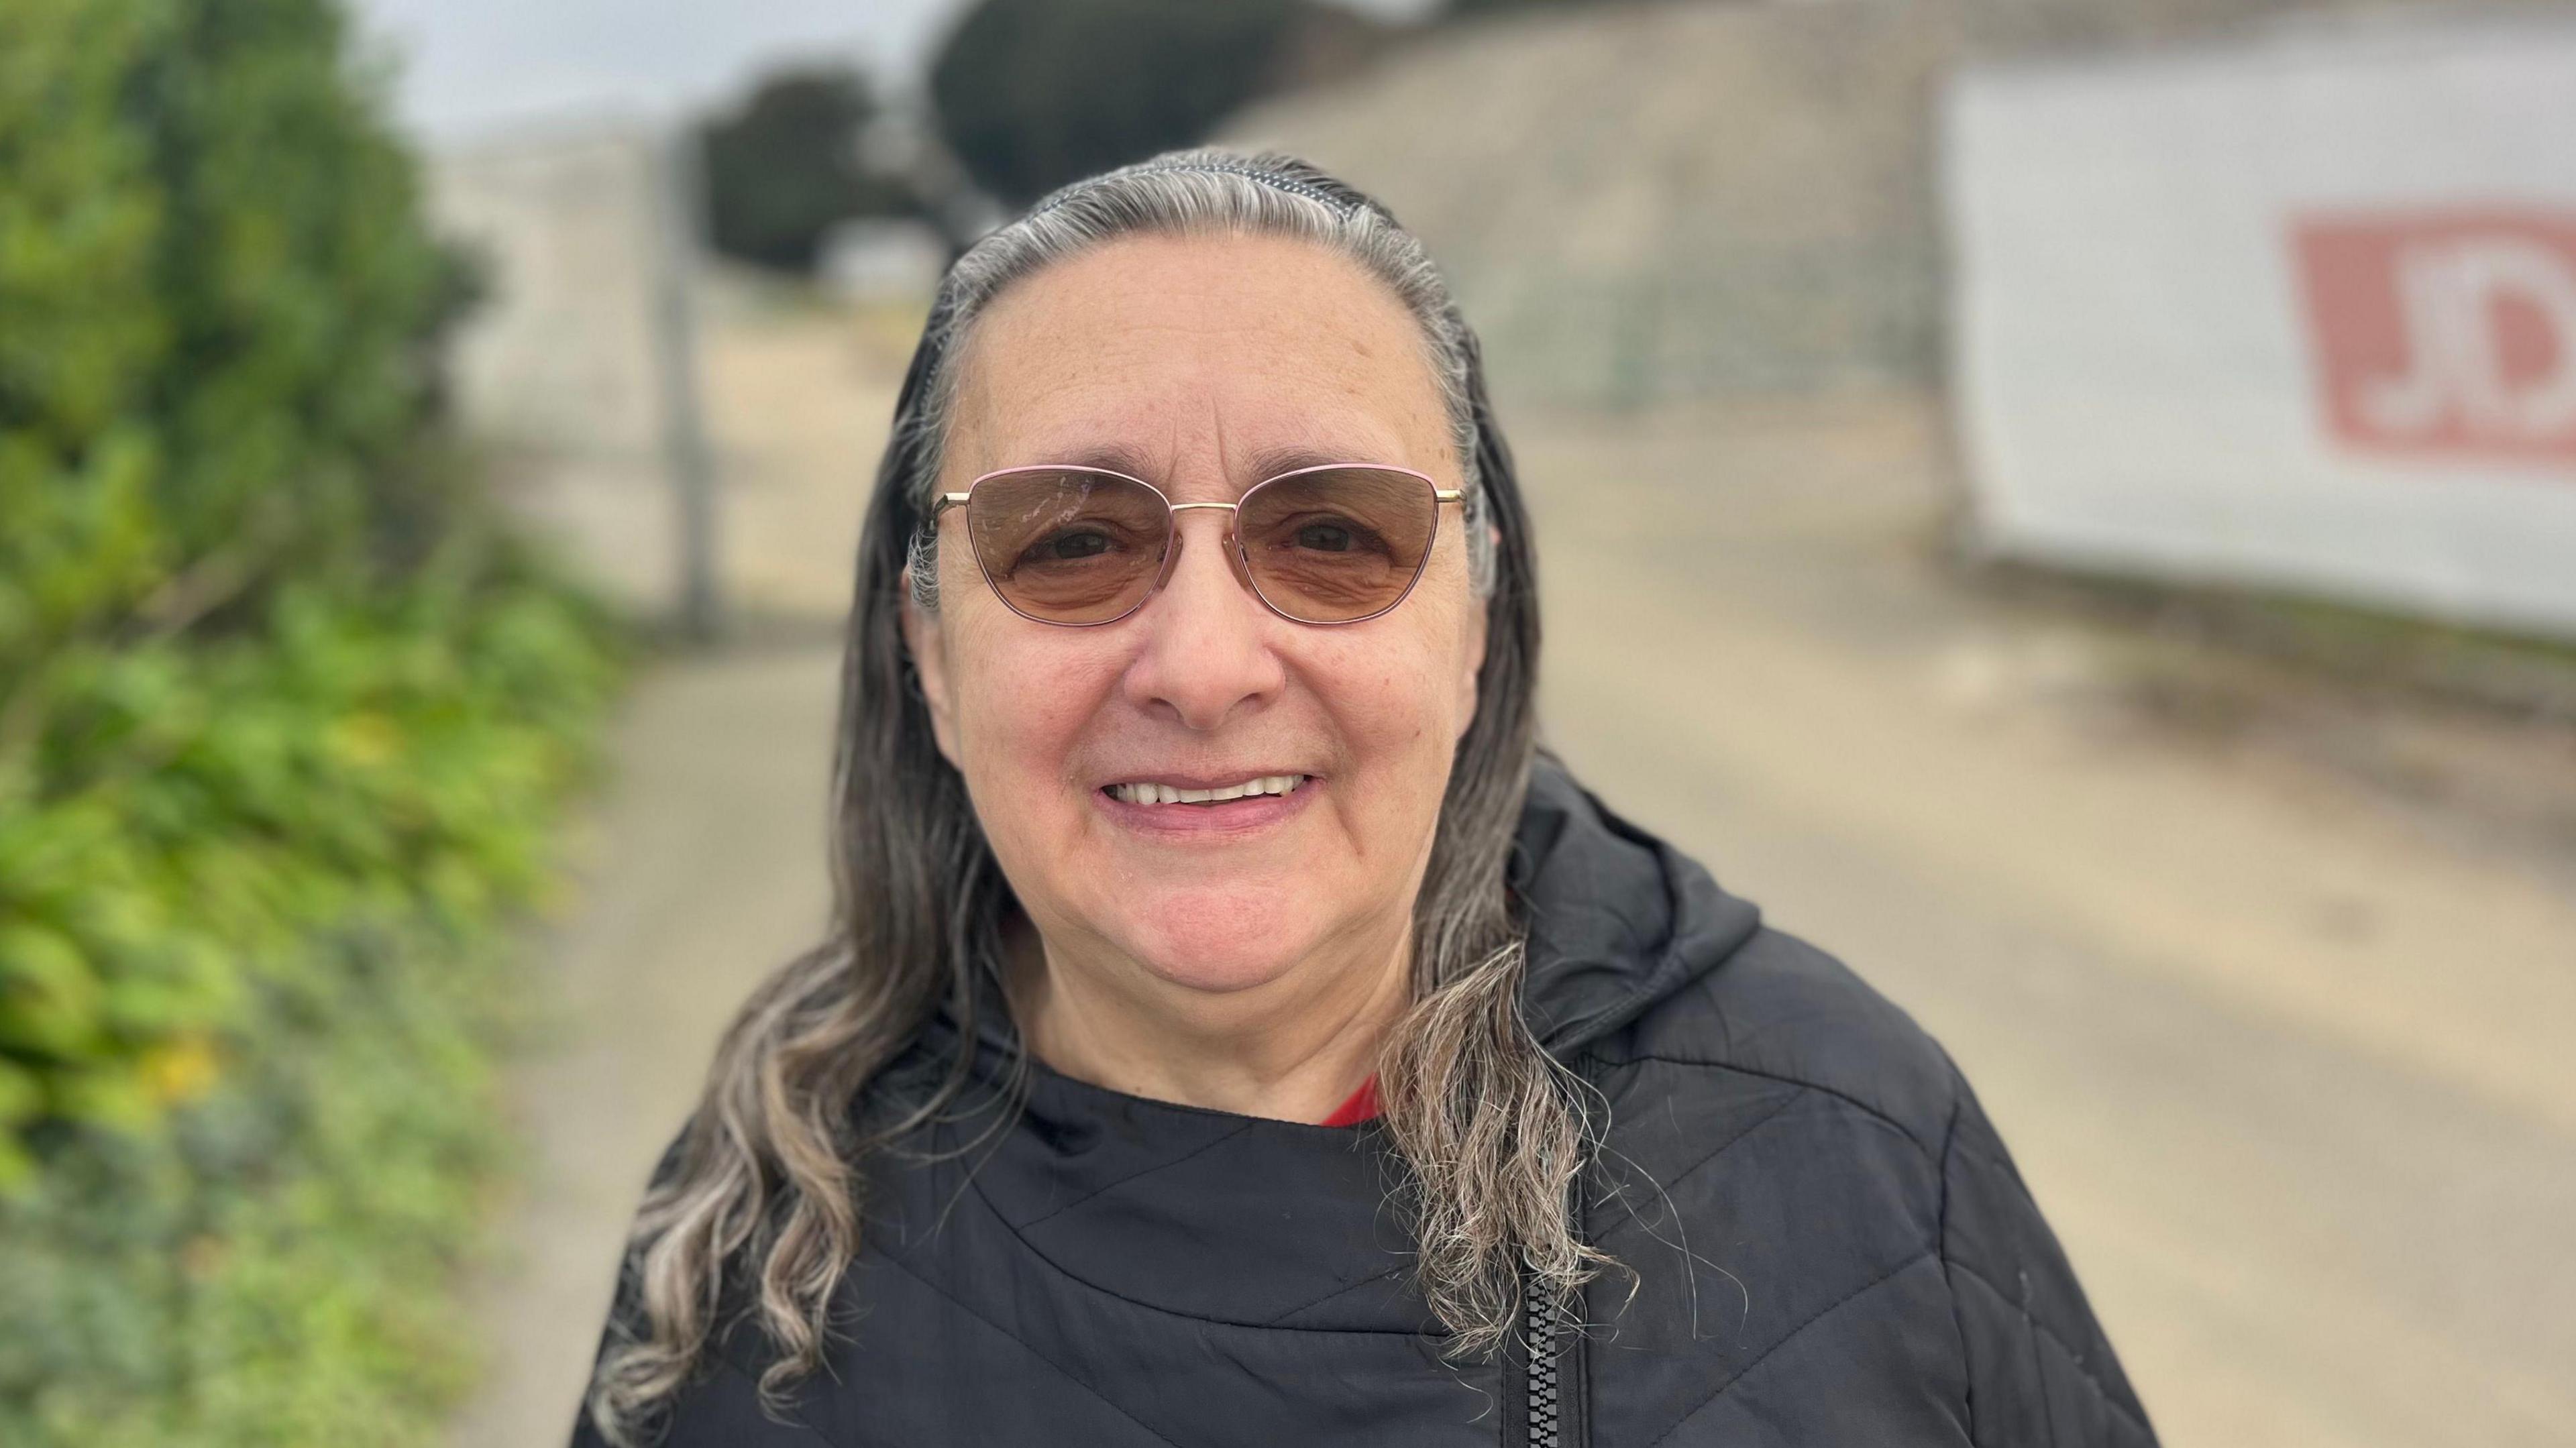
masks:
[[(1378, 1129), (1036, 1067), (987, 1147), (876, 1167), (829, 1371), (788, 1422), (742, 1327), (667, 1443), (2154, 1443), (2002, 1139), (1901, 1010), (1548, 763), (1512, 879), (1528, 1020), (1610, 1100), (1582, 1229), (1641, 1278), (1597, 1281), (1592, 1329), (1543, 1332), (1535, 1371), (1437, 1358)], [(935, 1025), (922, 1059), (951, 1046)]]

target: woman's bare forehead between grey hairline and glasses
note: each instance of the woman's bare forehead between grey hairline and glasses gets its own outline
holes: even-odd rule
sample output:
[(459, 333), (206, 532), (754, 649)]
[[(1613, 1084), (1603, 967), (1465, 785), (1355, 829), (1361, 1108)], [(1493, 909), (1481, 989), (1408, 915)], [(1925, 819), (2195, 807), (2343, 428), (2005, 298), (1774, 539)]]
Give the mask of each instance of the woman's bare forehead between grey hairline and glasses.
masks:
[[(1285, 237), (1128, 237), (994, 299), (958, 358), (961, 464), (1226, 472), (1291, 453), (1445, 453), (1448, 415), (1419, 325), (1350, 258)], [(1141, 472), (1123, 466), (1118, 472)]]

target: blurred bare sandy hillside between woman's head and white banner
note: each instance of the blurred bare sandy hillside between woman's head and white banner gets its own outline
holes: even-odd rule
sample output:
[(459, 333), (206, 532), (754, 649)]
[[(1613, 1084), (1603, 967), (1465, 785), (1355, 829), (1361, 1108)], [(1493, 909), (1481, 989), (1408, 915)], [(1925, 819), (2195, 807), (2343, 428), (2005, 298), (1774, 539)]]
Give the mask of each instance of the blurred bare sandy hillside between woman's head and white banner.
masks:
[(1497, 386), (1631, 407), (1924, 379), (1937, 5), (1649, 5), (1437, 33), (1255, 108), (1440, 258)]

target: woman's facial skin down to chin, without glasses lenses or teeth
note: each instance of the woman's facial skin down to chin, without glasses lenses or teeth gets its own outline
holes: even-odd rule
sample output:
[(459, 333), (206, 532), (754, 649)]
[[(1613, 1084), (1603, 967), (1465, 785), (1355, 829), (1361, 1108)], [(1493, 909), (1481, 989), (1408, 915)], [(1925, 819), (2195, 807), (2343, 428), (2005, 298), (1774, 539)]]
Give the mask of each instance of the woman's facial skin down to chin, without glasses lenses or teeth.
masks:
[[(1056, 263), (994, 299), (958, 384), (943, 490), (1066, 461), (1172, 502), (1231, 502), (1311, 461), (1461, 484), (1419, 327), (1373, 276), (1298, 240), (1128, 237)], [(1401, 948), (1484, 660), (1455, 502), (1414, 593), (1340, 626), (1252, 598), (1226, 518), (1177, 513), (1162, 593), (1064, 629), (994, 598), (948, 510), (940, 611), (904, 618), (940, 752), (1048, 953), (1200, 992)], [(1121, 788), (1280, 776), (1301, 783), (1216, 804)]]

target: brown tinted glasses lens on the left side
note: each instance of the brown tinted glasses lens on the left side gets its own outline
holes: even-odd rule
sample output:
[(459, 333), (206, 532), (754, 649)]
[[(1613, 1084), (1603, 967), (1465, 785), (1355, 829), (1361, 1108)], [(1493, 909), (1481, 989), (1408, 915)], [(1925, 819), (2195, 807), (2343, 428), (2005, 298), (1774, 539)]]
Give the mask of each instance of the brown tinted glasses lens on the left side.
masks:
[(994, 593), (1020, 613), (1108, 624), (1154, 590), (1172, 513), (1128, 477), (1012, 472), (974, 484), (966, 533)]

